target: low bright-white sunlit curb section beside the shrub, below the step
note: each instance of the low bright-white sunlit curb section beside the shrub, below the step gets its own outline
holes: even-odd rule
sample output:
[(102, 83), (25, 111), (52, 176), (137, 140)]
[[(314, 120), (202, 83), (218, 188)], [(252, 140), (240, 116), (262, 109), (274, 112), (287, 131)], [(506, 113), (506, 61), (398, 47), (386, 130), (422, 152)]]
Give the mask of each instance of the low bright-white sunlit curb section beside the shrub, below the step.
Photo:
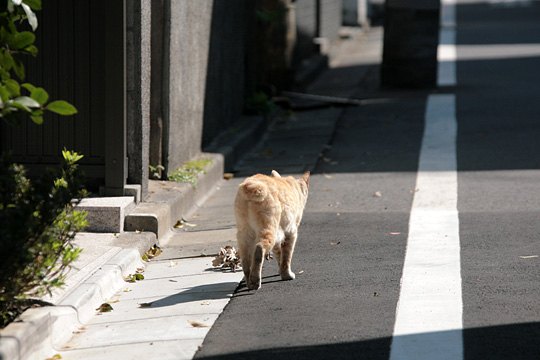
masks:
[(125, 276), (143, 266), (137, 249), (120, 250), (56, 306), (26, 310), (18, 321), (0, 331), (0, 359), (36, 359), (54, 354), (96, 314), (96, 308), (125, 285)]

